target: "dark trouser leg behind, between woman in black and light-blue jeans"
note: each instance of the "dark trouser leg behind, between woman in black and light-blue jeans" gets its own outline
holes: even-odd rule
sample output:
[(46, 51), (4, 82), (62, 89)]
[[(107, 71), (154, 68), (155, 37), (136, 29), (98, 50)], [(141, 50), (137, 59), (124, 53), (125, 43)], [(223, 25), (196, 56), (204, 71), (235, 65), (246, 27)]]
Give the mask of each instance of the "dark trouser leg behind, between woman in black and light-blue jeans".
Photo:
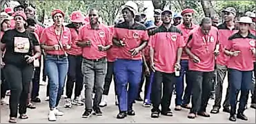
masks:
[(39, 66), (35, 67), (35, 73), (32, 79), (32, 95), (31, 95), (32, 99), (35, 99), (35, 97), (39, 96), (40, 73), (41, 73), (41, 60), (39, 60)]

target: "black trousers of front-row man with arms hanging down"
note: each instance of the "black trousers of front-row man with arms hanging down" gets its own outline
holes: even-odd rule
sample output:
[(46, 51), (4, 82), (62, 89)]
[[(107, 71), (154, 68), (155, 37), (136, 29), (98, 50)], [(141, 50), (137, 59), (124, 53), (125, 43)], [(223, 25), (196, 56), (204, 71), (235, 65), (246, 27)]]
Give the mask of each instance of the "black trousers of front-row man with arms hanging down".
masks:
[[(163, 83), (163, 95), (161, 95), (161, 89)], [(163, 73), (155, 71), (154, 79), (151, 89), (152, 100), (152, 112), (160, 111), (159, 106), (161, 104), (161, 112), (168, 111), (170, 107), (170, 100), (173, 95), (173, 85), (175, 84), (175, 73)]]

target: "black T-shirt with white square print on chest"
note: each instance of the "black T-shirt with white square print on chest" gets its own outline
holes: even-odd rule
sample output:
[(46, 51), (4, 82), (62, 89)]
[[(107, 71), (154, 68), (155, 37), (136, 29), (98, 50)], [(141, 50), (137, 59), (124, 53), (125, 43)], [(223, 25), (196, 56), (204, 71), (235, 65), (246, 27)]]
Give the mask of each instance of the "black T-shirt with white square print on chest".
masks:
[(3, 62), (6, 64), (25, 65), (25, 55), (33, 55), (34, 46), (39, 46), (35, 34), (31, 32), (18, 32), (10, 29), (3, 34), (1, 42), (6, 44), (6, 53)]

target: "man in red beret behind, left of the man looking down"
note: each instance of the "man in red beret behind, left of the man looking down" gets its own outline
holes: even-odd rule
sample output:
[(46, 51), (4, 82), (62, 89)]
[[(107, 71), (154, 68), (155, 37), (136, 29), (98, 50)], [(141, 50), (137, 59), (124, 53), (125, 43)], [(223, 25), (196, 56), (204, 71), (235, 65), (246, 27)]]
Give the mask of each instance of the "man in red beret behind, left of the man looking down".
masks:
[[(184, 39), (188, 37), (189, 32), (198, 25), (195, 25), (193, 20), (193, 13), (194, 10), (192, 9), (184, 9), (181, 12), (181, 16), (183, 17), (183, 23), (177, 25), (177, 28), (181, 30), (181, 33), (184, 36)], [(186, 43), (186, 41), (185, 41)], [(181, 55), (181, 75), (177, 77), (176, 83), (176, 99), (175, 99), (175, 110), (181, 110), (181, 107), (190, 109), (190, 97), (191, 97), (191, 90), (192, 90), (192, 83), (188, 76), (188, 55), (186, 54), (185, 50)], [(185, 94), (182, 100), (183, 92), (184, 92), (184, 75), (186, 75), (186, 89)]]

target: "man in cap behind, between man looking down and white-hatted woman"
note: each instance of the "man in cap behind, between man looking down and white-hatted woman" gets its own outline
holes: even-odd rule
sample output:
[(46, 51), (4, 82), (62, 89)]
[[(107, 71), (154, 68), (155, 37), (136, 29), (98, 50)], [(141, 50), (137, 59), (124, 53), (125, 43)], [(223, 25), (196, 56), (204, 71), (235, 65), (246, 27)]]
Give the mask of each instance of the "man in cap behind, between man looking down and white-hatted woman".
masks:
[[(233, 33), (237, 32), (235, 29), (235, 8), (228, 7), (225, 10), (221, 11), (224, 13), (224, 20), (225, 22), (219, 25), (217, 28), (219, 29), (219, 42), (220, 42), (220, 49), (219, 55), (217, 56), (215, 71), (217, 73), (217, 86), (215, 88), (215, 105), (213, 106), (213, 110), (210, 113), (217, 114), (219, 113), (219, 109), (221, 108), (221, 98), (222, 98), (222, 89), (223, 89), (223, 82), (226, 77), (227, 69), (227, 62), (228, 62), (228, 55), (224, 54), (224, 49), (228, 44), (228, 37), (231, 36)], [(228, 77), (229, 80), (229, 77)], [(230, 112), (229, 108), (229, 85), (226, 90), (226, 99), (224, 101), (224, 112)]]

